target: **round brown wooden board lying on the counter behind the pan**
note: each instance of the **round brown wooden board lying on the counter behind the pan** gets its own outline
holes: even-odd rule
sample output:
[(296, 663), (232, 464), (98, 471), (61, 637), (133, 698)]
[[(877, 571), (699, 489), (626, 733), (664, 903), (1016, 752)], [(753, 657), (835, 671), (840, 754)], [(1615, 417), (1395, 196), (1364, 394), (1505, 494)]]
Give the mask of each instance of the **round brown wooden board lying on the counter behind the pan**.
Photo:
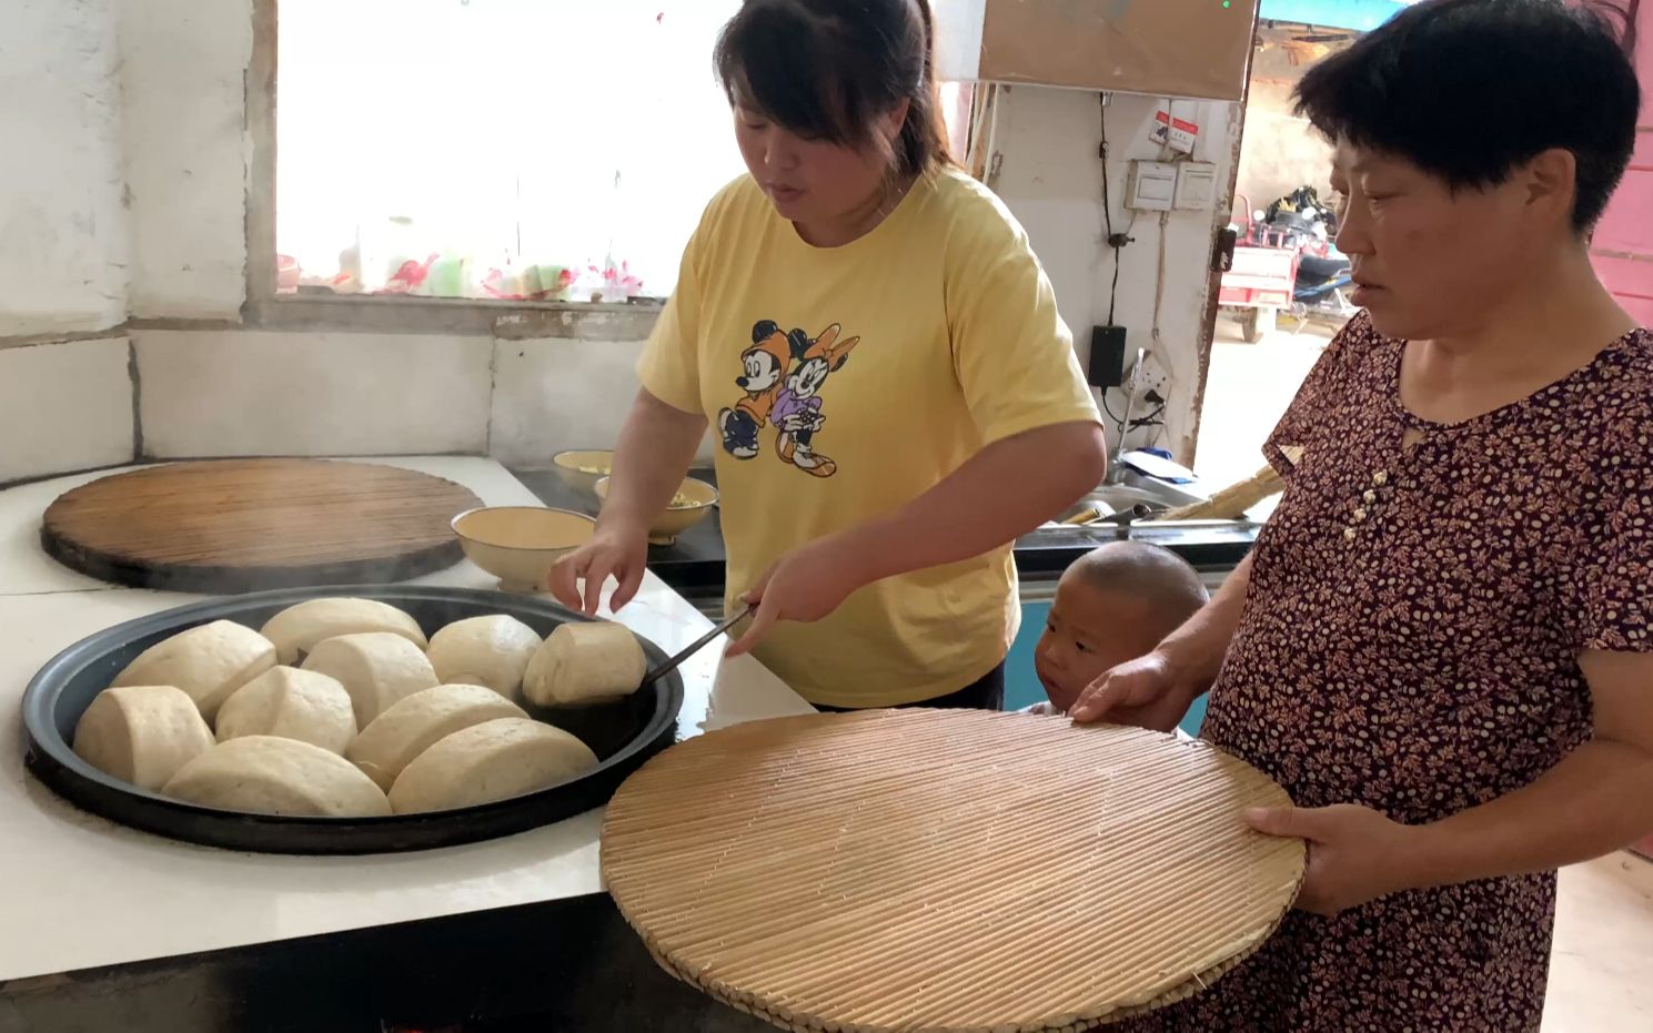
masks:
[(141, 588), (388, 583), (460, 562), (448, 522), (481, 504), (451, 481), (377, 463), (172, 463), (64, 493), (40, 540), (74, 570)]

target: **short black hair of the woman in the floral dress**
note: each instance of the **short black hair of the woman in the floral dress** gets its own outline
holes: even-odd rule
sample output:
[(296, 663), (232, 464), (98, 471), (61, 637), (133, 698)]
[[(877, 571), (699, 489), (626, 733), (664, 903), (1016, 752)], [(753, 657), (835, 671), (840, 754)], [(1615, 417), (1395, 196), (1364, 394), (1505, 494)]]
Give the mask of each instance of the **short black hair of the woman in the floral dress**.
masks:
[(1602, 7), (1417, 3), (1309, 69), (1298, 111), (1327, 136), (1407, 159), (1453, 188), (1491, 187), (1546, 150), (1570, 150), (1572, 223), (1584, 233), (1630, 164), (1641, 104)]

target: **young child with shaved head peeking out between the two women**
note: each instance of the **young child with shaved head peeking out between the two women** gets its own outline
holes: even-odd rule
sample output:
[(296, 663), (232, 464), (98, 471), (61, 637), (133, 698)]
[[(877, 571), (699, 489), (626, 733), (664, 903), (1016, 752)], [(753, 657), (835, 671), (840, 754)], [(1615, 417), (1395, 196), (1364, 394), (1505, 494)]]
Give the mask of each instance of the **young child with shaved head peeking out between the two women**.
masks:
[(1066, 714), (1086, 686), (1150, 651), (1207, 598), (1200, 575), (1169, 549), (1147, 542), (1093, 549), (1056, 583), (1056, 602), (1033, 655), (1050, 701), (1028, 712)]

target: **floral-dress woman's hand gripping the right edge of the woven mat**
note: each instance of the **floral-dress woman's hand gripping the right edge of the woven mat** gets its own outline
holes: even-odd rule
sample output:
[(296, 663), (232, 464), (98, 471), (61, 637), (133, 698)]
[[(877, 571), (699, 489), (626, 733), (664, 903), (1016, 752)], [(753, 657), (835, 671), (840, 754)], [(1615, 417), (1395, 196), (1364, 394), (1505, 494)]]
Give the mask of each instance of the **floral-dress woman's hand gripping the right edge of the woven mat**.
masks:
[(1270, 836), (1308, 840), (1309, 871), (1298, 891), (1298, 911), (1329, 917), (1415, 888), (1407, 866), (1418, 856), (1422, 830), (1369, 807), (1255, 808), (1245, 820)]

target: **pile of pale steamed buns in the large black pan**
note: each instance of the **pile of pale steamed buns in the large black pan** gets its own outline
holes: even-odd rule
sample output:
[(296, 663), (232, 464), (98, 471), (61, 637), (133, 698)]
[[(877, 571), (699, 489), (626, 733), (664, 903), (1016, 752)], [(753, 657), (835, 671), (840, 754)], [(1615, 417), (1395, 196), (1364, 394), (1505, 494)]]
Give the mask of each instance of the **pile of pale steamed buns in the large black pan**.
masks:
[(365, 818), (532, 793), (597, 765), (519, 701), (588, 706), (636, 691), (646, 661), (613, 623), (455, 621), (428, 641), (395, 607), (316, 598), (261, 630), (174, 635), (93, 699), (74, 752), (139, 788), (220, 810)]

